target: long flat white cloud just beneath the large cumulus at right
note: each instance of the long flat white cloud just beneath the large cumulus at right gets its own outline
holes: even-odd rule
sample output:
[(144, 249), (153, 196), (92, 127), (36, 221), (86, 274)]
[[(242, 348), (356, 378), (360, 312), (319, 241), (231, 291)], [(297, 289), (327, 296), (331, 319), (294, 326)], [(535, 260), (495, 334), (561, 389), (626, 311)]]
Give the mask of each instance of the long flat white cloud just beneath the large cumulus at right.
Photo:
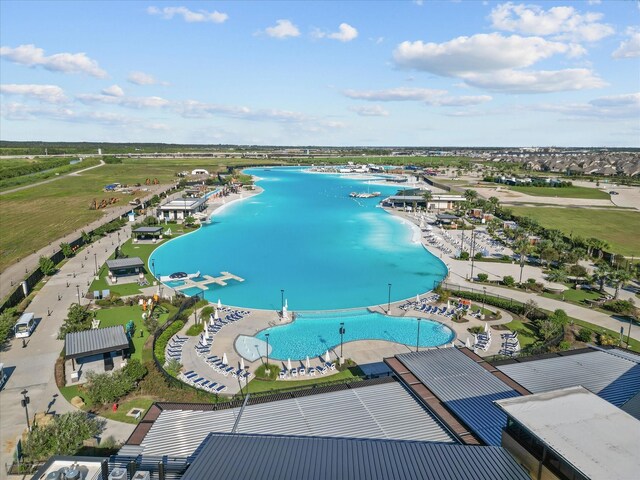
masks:
[(549, 93), (607, 86), (604, 80), (586, 68), (540, 71), (507, 69), (467, 74), (464, 80), (474, 87), (505, 93)]

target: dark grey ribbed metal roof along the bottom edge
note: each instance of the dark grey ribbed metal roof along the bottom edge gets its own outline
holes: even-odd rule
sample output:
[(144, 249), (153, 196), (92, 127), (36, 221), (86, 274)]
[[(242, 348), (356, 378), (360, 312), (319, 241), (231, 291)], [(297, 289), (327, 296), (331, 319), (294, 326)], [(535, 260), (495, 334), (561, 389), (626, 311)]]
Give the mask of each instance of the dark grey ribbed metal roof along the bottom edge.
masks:
[[(243, 461), (254, 459), (255, 461)], [(183, 480), (525, 480), (499, 447), (274, 435), (211, 434)]]

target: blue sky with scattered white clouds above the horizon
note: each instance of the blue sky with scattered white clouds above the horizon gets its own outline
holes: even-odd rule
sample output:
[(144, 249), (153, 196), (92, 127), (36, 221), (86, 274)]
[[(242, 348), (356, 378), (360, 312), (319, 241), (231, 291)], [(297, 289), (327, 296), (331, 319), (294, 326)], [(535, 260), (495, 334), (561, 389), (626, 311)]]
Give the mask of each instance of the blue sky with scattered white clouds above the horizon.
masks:
[(3, 0), (0, 137), (638, 147), (639, 5)]

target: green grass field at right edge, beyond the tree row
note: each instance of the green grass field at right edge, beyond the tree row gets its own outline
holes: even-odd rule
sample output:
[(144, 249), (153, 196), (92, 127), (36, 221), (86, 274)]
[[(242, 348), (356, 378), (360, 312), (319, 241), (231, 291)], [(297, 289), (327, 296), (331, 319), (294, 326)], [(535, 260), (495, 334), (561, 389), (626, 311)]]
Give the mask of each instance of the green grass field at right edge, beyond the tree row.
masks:
[(604, 240), (615, 253), (638, 255), (639, 212), (559, 207), (510, 206), (509, 209), (515, 215), (533, 218), (543, 227), (558, 229), (567, 235)]

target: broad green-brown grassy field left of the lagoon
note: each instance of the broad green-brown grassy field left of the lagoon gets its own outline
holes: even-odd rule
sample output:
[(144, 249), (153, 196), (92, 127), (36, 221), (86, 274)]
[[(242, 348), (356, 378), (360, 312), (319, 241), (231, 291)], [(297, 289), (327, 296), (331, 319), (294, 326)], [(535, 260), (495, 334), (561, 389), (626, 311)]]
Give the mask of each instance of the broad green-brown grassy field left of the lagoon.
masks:
[[(113, 182), (144, 184), (157, 178), (162, 184), (175, 182), (177, 172), (195, 167), (210, 171), (246, 164), (241, 159), (123, 159), (79, 175), (0, 196), (0, 270), (58, 238), (98, 220), (104, 210), (89, 210), (93, 199), (116, 197), (116, 207), (127, 205), (137, 195), (104, 192)], [(252, 164), (265, 163), (252, 161)], [(140, 192), (144, 195), (145, 192)], [(57, 245), (56, 245), (57, 247)]]

